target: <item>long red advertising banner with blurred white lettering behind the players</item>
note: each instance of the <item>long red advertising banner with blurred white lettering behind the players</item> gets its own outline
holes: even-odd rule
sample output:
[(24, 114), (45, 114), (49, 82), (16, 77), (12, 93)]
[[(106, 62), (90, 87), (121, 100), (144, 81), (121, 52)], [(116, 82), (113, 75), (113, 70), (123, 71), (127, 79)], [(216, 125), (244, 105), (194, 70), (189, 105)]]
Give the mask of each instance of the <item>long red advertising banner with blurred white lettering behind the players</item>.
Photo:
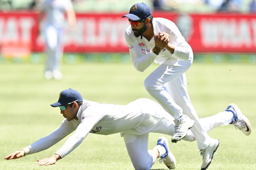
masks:
[[(66, 26), (65, 52), (128, 52), (124, 31), (129, 22), (127, 18), (122, 18), (123, 15), (124, 13), (77, 13), (76, 28)], [(256, 15), (171, 12), (153, 12), (153, 15), (176, 23), (194, 53), (256, 52)], [(31, 51), (43, 50), (44, 24), (38, 23), (37, 13), (0, 12), (2, 54), (26, 55)]]

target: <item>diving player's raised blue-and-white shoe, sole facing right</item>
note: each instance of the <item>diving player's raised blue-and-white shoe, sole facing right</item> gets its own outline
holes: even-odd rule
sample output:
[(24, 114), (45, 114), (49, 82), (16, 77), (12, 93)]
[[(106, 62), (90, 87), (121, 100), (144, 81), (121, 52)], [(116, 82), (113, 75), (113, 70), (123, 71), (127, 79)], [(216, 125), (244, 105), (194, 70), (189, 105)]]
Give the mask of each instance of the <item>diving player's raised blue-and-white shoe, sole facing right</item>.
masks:
[(249, 119), (242, 114), (241, 110), (235, 103), (229, 104), (225, 111), (232, 112), (234, 115), (234, 118), (229, 124), (233, 124), (235, 128), (241, 130), (244, 135), (248, 136), (251, 134), (251, 123)]

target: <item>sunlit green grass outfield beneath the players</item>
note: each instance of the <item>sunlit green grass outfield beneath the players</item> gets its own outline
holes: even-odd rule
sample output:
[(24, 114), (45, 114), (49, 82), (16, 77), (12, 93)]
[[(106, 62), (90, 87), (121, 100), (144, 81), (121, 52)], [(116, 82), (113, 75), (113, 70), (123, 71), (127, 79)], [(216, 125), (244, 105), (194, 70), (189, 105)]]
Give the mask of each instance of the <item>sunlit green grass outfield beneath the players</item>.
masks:
[[(38, 166), (36, 159), (50, 157), (67, 138), (48, 150), (21, 159), (7, 161), (4, 157), (59, 126), (63, 117), (50, 104), (58, 100), (60, 91), (73, 88), (85, 99), (101, 103), (127, 104), (138, 98), (152, 99), (143, 81), (156, 67), (154, 64), (140, 73), (130, 62), (62, 64), (63, 80), (47, 81), (43, 78), (42, 63), (1, 63), (0, 169), (133, 169), (119, 134), (89, 134), (73, 152), (51, 166)], [(220, 139), (220, 146), (208, 169), (255, 169), (256, 65), (195, 62), (187, 78), (190, 98), (199, 117), (216, 114), (235, 102), (252, 123), (250, 136), (244, 136), (233, 125), (209, 132), (211, 137)], [(159, 136), (149, 135), (149, 149), (155, 146)], [(176, 169), (200, 169), (202, 158), (196, 142), (169, 144), (177, 159)], [(167, 168), (157, 160), (152, 169)]]

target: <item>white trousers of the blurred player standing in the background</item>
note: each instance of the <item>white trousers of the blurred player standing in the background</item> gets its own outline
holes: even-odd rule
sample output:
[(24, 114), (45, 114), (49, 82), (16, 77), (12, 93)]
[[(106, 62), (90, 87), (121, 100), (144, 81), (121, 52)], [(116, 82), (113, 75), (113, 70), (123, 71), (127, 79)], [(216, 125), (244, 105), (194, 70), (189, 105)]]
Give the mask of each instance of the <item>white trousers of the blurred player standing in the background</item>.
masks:
[(63, 55), (63, 28), (56, 28), (52, 25), (45, 26), (45, 71), (59, 69), (60, 59)]

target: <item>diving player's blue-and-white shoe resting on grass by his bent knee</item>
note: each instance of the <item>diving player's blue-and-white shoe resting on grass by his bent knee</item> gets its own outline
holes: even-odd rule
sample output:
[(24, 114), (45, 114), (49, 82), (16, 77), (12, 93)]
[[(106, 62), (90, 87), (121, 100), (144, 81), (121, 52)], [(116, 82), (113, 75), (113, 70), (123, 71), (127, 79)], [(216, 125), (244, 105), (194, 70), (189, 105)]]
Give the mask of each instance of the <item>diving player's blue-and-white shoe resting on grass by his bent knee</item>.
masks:
[(169, 150), (169, 144), (168, 140), (166, 137), (159, 137), (157, 139), (157, 145), (162, 145), (164, 146), (165, 149), (165, 154), (160, 155), (161, 159), (159, 160), (160, 163), (164, 162), (164, 164), (169, 168), (169, 169), (175, 169), (176, 168), (176, 159), (175, 156), (170, 152)]

